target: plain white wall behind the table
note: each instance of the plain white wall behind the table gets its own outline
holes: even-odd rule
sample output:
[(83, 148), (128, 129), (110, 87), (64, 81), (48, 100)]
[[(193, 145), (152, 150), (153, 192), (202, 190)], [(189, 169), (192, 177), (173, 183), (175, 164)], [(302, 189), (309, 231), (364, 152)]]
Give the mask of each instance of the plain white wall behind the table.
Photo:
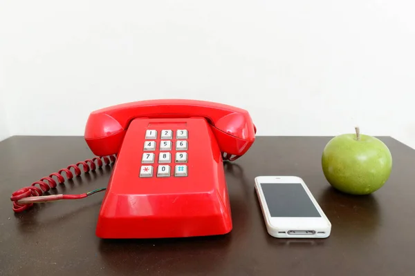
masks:
[(359, 124), (415, 146), (414, 1), (0, 7), (1, 136), (83, 135), (92, 110), (174, 97), (246, 108), (258, 135)]

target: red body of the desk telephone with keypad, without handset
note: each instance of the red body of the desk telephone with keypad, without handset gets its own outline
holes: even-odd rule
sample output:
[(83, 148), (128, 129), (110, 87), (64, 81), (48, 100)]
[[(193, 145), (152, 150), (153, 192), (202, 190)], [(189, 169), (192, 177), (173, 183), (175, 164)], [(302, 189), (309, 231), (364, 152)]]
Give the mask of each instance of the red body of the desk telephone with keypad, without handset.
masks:
[[(182, 132), (185, 137), (177, 138)], [(231, 229), (221, 150), (208, 121), (133, 119), (102, 202), (96, 235), (194, 237)]]

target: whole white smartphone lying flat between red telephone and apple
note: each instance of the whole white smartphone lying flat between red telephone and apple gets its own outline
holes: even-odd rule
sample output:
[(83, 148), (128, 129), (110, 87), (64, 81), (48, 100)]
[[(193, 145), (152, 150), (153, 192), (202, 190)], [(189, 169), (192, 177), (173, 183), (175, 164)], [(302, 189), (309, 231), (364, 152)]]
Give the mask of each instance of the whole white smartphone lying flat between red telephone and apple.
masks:
[(268, 233), (281, 238), (325, 238), (331, 223), (299, 177), (255, 177)]

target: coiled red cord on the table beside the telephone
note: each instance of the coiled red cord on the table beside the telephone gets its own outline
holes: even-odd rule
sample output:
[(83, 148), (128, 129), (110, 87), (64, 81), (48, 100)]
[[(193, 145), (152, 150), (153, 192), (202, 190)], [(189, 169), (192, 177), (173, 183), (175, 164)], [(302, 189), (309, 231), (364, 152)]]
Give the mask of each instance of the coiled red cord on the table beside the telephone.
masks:
[[(102, 162), (104, 160), (104, 162)], [(45, 201), (55, 201), (60, 199), (82, 199), (84, 197), (88, 197), (89, 195), (93, 195), (94, 193), (98, 193), (105, 188), (100, 188), (97, 190), (93, 190), (88, 193), (83, 193), (80, 195), (46, 195), (42, 196), (44, 193), (48, 192), (50, 188), (56, 188), (57, 182), (59, 184), (63, 184), (65, 179), (63, 177), (63, 173), (66, 173), (66, 178), (68, 180), (73, 179), (73, 173), (71, 172), (71, 168), (74, 170), (75, 175), (78, 177), (81, 175), (80, 166), (84, 168), (84, 172), (89, 172), (101, 168), (104, 163), (109, 165), (116, 161), (116, 155), (109, 155), (103, 157), (93, 157), (92, 159), (86, 159), (84, 161), (79, 161), (76, 164), (71, 164), (67, 168), (62, 168), (58, 172), (51, 173), (48, 177), (42, 177), (39, 181), (33, 182), (30, 186), (25, 188), (21, 188), (15, 193), (12, 193), (10, 200), (13, 201), (13, 210), (15, 213), (23, 212), (33, 206), (35, 202), (45, 202)], [(95, 164), (96, 162), (96, 164)], [(56, 177), (57, 181), (53, 179)], [(39, 187), (36, 187), (38, 185)]]

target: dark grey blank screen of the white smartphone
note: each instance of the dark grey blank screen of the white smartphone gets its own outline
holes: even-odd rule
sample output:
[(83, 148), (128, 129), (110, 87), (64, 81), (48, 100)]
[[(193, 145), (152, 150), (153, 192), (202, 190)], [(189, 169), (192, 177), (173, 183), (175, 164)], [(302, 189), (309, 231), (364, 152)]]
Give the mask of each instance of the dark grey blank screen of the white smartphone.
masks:
[(321, 217), (302, 184), (262, 183), (271, 217)]

